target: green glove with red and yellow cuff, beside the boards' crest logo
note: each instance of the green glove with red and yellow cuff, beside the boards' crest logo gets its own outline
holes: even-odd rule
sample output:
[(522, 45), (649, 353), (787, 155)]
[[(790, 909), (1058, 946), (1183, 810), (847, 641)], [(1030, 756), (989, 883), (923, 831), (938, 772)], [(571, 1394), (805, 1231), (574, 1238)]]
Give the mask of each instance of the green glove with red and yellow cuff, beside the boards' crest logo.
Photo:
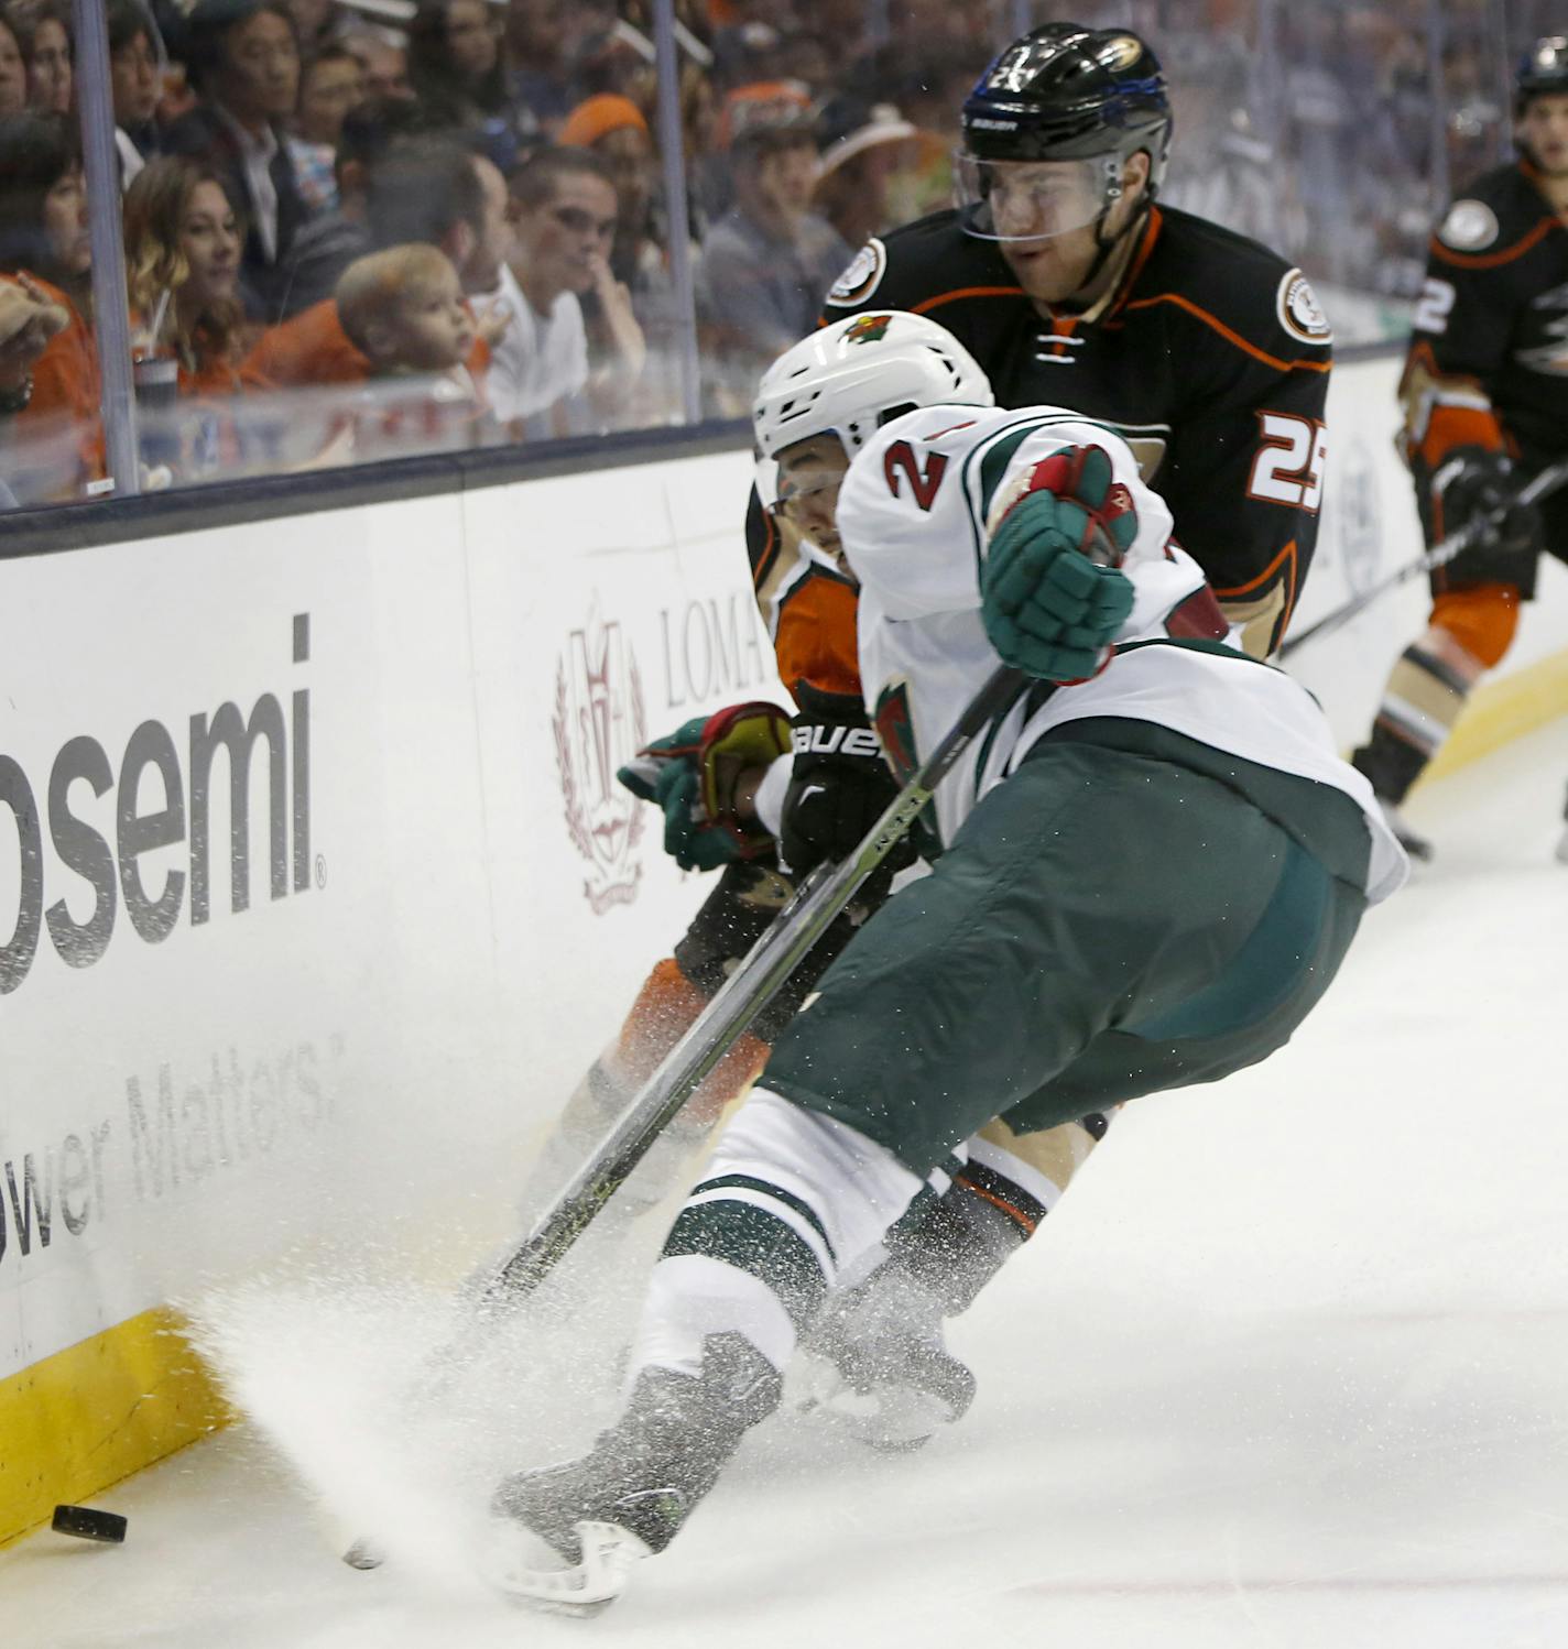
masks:
[(617, 778), (664, 813), (664, 853), (683, 871), (714, 871), (773, 846), (755, 818), (742, 818), (735, 790), (744, 773), (790, 749), (790, 717), (777, 704), (732, 704), (696, 716), (638, 750)]

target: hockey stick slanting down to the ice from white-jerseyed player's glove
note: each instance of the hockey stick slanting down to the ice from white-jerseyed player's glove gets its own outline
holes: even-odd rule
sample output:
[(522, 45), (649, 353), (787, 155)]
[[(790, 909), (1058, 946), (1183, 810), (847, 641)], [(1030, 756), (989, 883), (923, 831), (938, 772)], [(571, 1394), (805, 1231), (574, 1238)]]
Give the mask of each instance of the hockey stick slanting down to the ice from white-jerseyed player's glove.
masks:
[(819, 864), (800, 884), (767, 933), (631, 1097), (599, 1149), (539, 1217), (523, 1245), (481, 1288), (481, 1314), (521, 1303), (549, 1276), (617, 1187), (625, 1184), (697, 1083), (745, 1034), (866, 877), (904, 839), (976, 734), (1007, 709), (1026, 679), (1022, 671), (1007, 666), (998, 669), (889, 803), (859, 848), (838, 864)]

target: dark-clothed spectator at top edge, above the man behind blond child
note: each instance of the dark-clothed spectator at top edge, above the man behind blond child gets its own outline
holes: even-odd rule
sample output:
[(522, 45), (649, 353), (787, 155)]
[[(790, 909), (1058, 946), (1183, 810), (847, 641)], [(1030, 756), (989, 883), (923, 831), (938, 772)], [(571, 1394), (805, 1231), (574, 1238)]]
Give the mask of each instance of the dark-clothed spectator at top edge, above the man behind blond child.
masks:
[(490, 0), (419, 0), (409, 76), (430, 125), (483, 134), (501, 171), (538, 140), (539, 122), (508, 82), (501, 18)]

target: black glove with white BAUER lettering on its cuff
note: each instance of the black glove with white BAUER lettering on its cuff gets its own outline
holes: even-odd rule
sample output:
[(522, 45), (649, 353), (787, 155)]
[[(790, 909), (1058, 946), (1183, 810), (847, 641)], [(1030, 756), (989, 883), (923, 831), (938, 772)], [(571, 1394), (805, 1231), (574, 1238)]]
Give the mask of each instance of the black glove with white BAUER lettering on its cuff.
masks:
[[(843, 859), (899, 793), (882, 759), (882, 745), (864, 714), (824, 719), (808, 707), (795, 717), (795, 759), (778, 828), (778, 857), (796, 876)], [(894, 869), (913, 861), (913, 851), (894, 849)]]

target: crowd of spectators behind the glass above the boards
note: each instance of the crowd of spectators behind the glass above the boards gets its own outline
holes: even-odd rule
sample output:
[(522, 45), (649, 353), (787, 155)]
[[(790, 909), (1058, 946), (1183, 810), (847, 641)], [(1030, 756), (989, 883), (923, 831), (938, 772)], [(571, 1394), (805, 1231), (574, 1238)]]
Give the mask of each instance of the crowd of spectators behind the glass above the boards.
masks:
[[(1509, 152), (1507, 73), (1545, 10), (1075, 16), (1129, 23), (1164, 61), (1162, 198), (1299, 262), (1344, 343), (1401, 333), (1433, 213)], [(673, 15), (661, 125), (663, 23), (640, 0), (107, 0), (140, 488), (608, 435), (694, 402), (744, 416), (856, 247), (948, 203), (958, 106), (989, 56), (1062, 13)], [(5, 506), (110, 485), (73, 31), (63, 0), (0, 5)], [(658, 142), (676, 127), (678, 171)]]

